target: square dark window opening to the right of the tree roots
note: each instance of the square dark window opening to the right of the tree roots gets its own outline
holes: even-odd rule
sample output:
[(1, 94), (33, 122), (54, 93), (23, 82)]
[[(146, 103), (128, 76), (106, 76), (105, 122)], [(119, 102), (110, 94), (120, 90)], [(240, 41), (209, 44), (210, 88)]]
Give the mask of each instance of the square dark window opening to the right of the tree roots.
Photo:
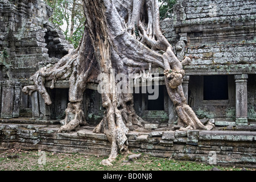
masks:
[(204, 76), (204, 100), (228, 99), (228, 76)]

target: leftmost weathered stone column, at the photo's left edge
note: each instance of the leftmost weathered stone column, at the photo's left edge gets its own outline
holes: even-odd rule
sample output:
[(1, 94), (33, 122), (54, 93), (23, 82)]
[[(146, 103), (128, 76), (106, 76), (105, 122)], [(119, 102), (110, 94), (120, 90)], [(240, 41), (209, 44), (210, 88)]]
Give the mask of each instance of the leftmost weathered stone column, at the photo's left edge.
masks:
[(6, 80), (2, 84), (1, 118), (13, 118), (14, 85), (13, 80)]

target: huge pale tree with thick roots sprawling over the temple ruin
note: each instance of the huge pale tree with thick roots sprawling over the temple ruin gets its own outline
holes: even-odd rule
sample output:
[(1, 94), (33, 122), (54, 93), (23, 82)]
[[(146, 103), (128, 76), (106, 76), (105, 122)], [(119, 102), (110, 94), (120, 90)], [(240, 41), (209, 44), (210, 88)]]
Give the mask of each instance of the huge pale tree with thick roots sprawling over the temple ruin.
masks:
[[(65, 125), (59, 132), (74, 130), (86, 125), (82, 98), (89, 82), (96, 82), (104, 74), (105, 91), (101, 92), (102, 106), (106, 112), (93, 130), (105, 133), (111, 143), (109, 158), (102, 164), (111, 165), (118, 152), (128, 151), (126, 134), (130, 126), (143, 126), (143, 119), (134, 110), (133, 94), (117, 92), (113, 75), (118, 73), (144, 73), (145, 69), (163, 68), (166, 88), (174, 102), (181, 130), (211, 129), (204, 126), (187, 105), (181, 83), (185, 74), (183, 61), (177, 59), (173, 48), (163, 36), (159, 24), (157, 0), (98, 0), (84, 1), (85, 30), (79, 47), (64, 56), (52, 67), (44, 67), (31, 77), (34, 85), (25, 86), (24, 93), (38, 90), (45, 103), (51, 104), (44, 83), (69, 79), (69, 104), (65, 110)], [(115, 74), (114, 74), (115, 73)], [(145, 74), (142, 74), (145, 76)], [(75, 118), (68, 121), (68, 114)]]

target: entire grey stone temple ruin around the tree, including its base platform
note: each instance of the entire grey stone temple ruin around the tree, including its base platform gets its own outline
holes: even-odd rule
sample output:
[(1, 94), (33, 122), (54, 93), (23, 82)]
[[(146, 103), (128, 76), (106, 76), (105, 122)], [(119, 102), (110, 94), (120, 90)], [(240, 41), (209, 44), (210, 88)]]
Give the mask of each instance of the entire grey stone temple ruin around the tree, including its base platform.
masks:
[[(104, 107), (97, 84), (88, 84), (84, 113), (90, 126), (71, 133), (57, 133), (68, 104), (68, 81), (57, 81), (46, 106), (23, 86), (39, 68), (56, 63), (73, 49), (50, 22), (52, 10), (41, 0), (0, 0), (0, 150), (84, 152), (109, 155), (105, 134), (92, 130), (101, 121)], [(256, 165), (256, 4), (255, 1), (180, 0), (174, 18), (161, 22), (164, 36), (184, 66), (183, 89), (189, 106), (211, 131), (171, 131), (177, 114), (159, 74), (159, 98), (134, 94), (143, 131), (130, 131), (130, 151), (210, 164)]]

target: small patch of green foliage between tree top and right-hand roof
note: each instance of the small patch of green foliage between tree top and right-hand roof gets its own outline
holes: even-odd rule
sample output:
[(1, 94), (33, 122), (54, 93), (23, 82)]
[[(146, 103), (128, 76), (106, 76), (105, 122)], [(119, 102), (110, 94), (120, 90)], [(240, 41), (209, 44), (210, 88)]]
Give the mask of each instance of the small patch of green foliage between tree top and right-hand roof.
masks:
[(173, 6), (176, 0), (158, 0), (160, 19), (172, 18)]

